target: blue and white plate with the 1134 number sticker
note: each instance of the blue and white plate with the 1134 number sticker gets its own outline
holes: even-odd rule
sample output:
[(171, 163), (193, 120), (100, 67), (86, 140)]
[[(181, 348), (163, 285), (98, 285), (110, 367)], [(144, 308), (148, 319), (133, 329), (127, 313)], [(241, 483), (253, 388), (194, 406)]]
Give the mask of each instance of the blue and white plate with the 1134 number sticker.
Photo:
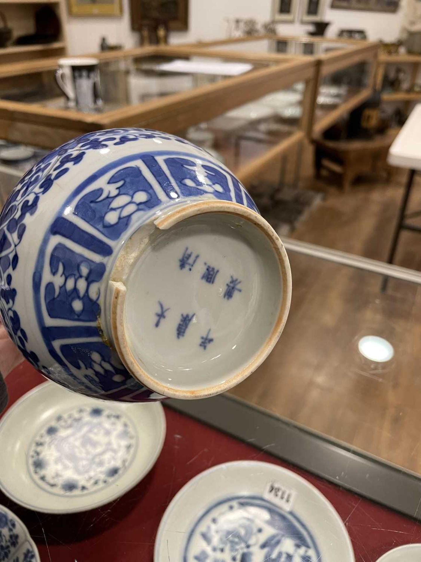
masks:
[(354, 562), (345, 525), (314, 486), (268, 463), (205, 470), (159, 525), (154, 562)]

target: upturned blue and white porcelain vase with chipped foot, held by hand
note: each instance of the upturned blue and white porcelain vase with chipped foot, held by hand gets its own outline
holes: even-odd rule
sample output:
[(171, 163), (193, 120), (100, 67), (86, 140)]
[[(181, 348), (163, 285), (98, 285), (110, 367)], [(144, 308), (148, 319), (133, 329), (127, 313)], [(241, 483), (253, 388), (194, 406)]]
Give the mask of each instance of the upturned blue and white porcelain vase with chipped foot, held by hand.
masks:
[(109, 400), (200, 398), (280, 336), (277, 234), (204, 149), (148, 129), (85, 134), (26, 173), (0, 215), (0, 308), (41, 373)]

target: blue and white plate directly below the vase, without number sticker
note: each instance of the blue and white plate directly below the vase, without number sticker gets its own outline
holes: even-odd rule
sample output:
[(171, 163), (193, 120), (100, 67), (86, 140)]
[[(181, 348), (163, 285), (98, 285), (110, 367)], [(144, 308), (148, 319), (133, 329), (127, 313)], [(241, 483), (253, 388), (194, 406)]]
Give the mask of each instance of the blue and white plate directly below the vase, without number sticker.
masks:
[(165, 433), (158, 403), (103, 402), (45, 383), (0, 422), (0, 451), (7, 459), (0, 465), (0, 488), (36, 511), (93, 509), (145, 477)]

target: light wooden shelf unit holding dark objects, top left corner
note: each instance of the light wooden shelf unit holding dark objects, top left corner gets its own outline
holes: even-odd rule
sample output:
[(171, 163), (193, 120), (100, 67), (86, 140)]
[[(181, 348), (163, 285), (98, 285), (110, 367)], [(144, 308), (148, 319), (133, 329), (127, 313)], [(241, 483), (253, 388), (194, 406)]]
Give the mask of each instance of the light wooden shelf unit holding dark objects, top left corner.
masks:
[(7, 25), (12, 28), (13, 39), (35, 31), (35, 12), (48, 4), (56, 12), (61, 23), (60, 37), (53, 43), (31, 45), (10, 44), (0, 48), (0, 65), (29, 61), (35, 58), (58, 57), (66, 54), (66, 29), (64, 0), (0, 0), (0, 11), (4, 13)]

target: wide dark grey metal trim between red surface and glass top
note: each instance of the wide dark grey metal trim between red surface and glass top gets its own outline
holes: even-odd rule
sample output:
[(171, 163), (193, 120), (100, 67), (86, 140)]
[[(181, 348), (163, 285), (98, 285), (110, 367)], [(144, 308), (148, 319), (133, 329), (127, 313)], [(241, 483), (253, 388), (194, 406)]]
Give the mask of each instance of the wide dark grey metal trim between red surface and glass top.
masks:
[(421, 516), (421, 478), (228, 395), (165, 403), (341, 487)]

